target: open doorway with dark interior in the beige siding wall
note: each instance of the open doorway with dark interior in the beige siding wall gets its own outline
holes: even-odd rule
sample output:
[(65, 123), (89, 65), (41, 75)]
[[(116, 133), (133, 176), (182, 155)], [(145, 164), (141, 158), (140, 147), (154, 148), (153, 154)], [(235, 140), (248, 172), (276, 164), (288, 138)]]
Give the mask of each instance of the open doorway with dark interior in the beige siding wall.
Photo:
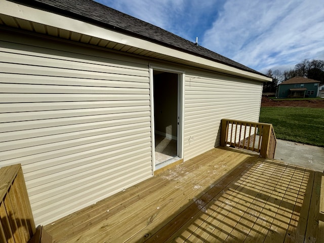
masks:
[(179, 76), (153, 70), (155, 169), (181, 158)]

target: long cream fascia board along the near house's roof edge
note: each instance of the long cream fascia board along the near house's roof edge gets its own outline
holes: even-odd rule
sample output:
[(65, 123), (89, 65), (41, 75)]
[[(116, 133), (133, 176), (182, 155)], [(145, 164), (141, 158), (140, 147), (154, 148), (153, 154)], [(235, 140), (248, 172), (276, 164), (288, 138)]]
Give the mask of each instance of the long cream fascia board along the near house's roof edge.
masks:
[(257, 73), (241, 70), (209, 59), (205, 59), (203, 57), (197, 57), (192, 54), (188, 54), (149, 41), (145, 41), (144, 39), (141, 38), (129, 36), (123, 33), (118, 33), (87, 22), (68, 18), (65, 16), (46, 12), (39, 9), (34, 9), (24, 5), (9, 2), (7, 0), (3, 0), (0, 2), (0, 13), (12, 17), (16, 17), (16, 18), (28, 20), (31, 22), (36, 22), (39, 24), (49, 25), (52, 27), (65, 29), (68, 31), (85, 34), (100, 39), (105, 39), (110, 42), (124, 44), (131, 47), (136, 47), (147, 51), (164, 54), (174, 58), (195, 62), (205, 66), (209, 66), (213, 70), (217, 69), (219, 72), (224, 72), (235, 76), (246, 77), (249, 79), (259, 80), (261, 82), (269, 82), (272, 80), (271, 78), (268, 78), (266, 76)]

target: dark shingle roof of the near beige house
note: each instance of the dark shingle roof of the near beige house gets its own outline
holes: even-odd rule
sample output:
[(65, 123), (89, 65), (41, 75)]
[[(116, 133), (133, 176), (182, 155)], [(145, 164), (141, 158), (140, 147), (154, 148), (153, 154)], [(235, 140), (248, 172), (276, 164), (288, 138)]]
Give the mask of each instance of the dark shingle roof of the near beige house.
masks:
[(92, 0), (11, 1), (89, 22), (97, 26), (146, 39), (150, 42), (193, 54), (195, 56), (266, 76), (263, 73), (219, 55), (211, 50), (201, 46), (196, 46), (187, 39), (175, 35), (167, 30), (121, 13)]

